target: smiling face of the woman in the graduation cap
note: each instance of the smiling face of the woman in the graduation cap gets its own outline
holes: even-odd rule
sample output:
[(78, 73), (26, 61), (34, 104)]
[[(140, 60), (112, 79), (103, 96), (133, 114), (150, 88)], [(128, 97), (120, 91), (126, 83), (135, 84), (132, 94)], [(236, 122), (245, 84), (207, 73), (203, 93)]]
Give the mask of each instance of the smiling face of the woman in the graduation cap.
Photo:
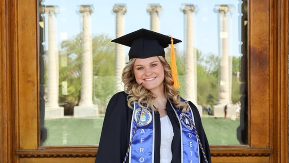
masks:
[(133, 65), (133, 73), (137, 84), (143, 83), (151, 92), (163, 89), (164, 67), (158, 57), (137, 58)]

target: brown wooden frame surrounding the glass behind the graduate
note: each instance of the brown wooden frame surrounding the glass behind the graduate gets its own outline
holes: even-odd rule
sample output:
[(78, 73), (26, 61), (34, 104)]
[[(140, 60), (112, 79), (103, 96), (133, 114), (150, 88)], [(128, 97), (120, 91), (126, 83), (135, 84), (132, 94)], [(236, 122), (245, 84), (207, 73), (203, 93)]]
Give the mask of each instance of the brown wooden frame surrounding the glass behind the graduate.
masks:
[[(93, 162), (95, 146), (39, 147), (38, 2), (0, 0), (0, 29), (0, 163)], [(212, 160), (287, 162), (287, 0), (249, 1), (248, 34), (249, 144)]]

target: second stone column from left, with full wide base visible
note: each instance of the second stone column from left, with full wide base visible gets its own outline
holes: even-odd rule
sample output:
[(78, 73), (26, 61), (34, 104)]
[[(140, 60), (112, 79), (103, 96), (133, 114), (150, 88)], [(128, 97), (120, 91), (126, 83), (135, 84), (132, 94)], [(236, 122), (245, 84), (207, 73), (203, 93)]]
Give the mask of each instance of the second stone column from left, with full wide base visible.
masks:
[(92, 57), (92, 32), (91, 32), (91, 13), (93, 7), (81, 5), (79, 12), (82, 14), (82, 67), (81, 67), (81, 99), (79, 106), (74, 107), (73, 115), (96, 116), (97, 106), (93, 104), (93, 57)]

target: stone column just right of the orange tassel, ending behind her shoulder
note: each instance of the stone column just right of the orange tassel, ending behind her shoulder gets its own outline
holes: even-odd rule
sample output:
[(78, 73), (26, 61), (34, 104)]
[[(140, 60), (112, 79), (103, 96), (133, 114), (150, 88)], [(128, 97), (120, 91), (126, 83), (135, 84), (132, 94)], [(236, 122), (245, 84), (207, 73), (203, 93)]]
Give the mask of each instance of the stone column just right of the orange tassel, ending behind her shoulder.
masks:
[(196, 92), (196, 53), (194, 50), (194, 35), (193, 35), (193, 12), (196, 10), (193, 5), (183, 6), (183, 12), (186, 15), (186, 47), (185, 47), (185, 75), (184, 75), (184, 87), (185, 98), (197, 104), (197, 92)]

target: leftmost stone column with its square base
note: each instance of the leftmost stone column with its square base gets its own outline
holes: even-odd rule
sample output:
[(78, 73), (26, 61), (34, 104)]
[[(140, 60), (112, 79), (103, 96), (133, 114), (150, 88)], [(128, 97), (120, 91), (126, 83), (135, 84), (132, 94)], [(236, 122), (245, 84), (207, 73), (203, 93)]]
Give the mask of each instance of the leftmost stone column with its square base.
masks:
[(48, 50), (47, 50), (47, 102), (45, 106), (45, 118), (60, 118), (64, 116), (64, 108), (58, 105), (59, 92), (59, 63), (57, 18), (59, 13), (57, 6), (45, 6), (44, 12), (48, 14)]

